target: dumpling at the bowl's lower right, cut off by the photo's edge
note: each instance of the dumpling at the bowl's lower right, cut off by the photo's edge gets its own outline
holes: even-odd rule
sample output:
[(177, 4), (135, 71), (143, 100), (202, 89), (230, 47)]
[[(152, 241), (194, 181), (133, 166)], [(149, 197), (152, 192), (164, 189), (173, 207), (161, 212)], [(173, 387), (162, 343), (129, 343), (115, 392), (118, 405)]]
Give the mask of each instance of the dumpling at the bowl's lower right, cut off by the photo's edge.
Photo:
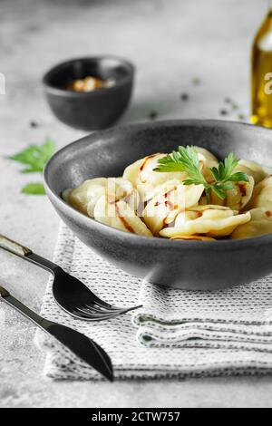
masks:
[(233, 233), (231, 238), (249, 238), (257, 237), (272, 232), (272, 208), (254, 208), (250, 210), (251, 219), (244, 225), (239, 225)]

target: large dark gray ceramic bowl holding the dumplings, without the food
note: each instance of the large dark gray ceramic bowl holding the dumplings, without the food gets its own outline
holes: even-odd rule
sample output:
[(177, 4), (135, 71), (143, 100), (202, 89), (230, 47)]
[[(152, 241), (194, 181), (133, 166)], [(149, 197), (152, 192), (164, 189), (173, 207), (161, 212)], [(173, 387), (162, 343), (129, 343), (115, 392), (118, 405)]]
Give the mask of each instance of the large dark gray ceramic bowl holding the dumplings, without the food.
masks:
[[(74, 234), (102, 257), (152, 283), (189, 290), (241, 285), (272, 272), (272, 234), (244, 240), (173, 241), (132, 235), (85, 217), (60, 197), (84, 179), (119, 176), (132, 161), (178, 145), (199, 145), (224, 158), (272, 162), (272, 132), (227, 121), (162, 121), (92, 135), (57, 152), (44, 171), (45, 189)], [(90, 266), (92, 267), (92, 266)]]

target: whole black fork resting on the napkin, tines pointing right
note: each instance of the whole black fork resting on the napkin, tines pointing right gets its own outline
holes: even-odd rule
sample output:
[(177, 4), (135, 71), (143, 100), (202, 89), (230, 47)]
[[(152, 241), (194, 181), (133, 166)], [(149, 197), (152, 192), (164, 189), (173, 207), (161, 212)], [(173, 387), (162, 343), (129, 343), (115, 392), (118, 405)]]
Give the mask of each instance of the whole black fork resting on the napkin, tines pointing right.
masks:
[(79, 279), (67, 274), (60, 266), (36, 255), (30, 248), (0, 234), (0, 248), (43, 267), (53, 275), (53, 297), (64, 311), (85, 321), (102, 321), (126, 314), (139, 306), (128, 308), (110, 305), (94, 295)]

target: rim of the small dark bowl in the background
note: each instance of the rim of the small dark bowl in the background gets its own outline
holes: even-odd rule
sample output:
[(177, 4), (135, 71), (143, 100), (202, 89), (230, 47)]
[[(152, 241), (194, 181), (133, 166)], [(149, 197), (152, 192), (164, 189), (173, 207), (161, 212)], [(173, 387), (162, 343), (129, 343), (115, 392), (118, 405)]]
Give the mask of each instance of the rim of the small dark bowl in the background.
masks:
[[(66, 65), (76, 63), (76, 62), (79, 62), (79, 61), (82, 61), (82, 62), (85, 62), (85, 61), (86, 62), (87, 61), (99, 62), (99, 61), (102, 61), (104, 59), (112, 59), (112, 60), (115, 60), (115, 61), (119, 61), (122, 65), (125, 66), (125, 68), (128, 71), (127, 75), (122, 77), (121, 80), (119, 80), (118, 82), (116, 82), (114, 85), (112, 85), (110, 87), (102, 87), (101, 89), (99, 89), (97, 91), (92, 91), (92, 92), (75, 92), (75, 91), (70, 91), (68, 89), (62, 89), (61, 87), (55, 87), (49, 82), (49, 79), (53, 76), (53, 74), (61, 71), (62, 68)], [(45, 89), (46, 92), (50, 92), (50, 93), (57, 94), (57, 95), (60, 95), (60, 96), (67, 96), (67, 97), (71, 97), (71, 96), (73, 96), (73, 97), (97, 96), (101, 92), (110, 92), (110, 91), (114, 92), (115, 90), (118, 90), (126, 82), (132, 82), (134, 73), (135, 73), (134, 64), (131, 63), (129, 60), (122, 58), (121, 56), (117, 56), (117, 55), (113, 55), (113, 54), (103, 54), (103, 55), (98, 55), (98, 56), (80, 56), (78, 58), (68, 59), (66, 61), (63, 61), (62, 63), (57, 63), (57, 64), (53, 65), (52, 68), (50, 68), (46, 73), (44, 73), (42, 82), (43, 82), (43, 86), (44, 86), (44, 89)]]

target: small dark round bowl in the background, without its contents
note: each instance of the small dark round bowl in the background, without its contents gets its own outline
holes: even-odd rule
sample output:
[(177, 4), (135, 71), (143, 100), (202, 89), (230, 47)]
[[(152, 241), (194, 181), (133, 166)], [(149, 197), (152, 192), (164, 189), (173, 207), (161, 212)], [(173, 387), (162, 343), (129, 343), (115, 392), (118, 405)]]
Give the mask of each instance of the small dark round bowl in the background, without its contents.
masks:
[[(93, 92), (73, 92), (69, 83), (92, 75), (113, 80), (114, 85)], [(134, 67), (115, 56), (73, 59), (54, 66), (44, 75), (44, 90), (54, 115), (83, 131), (111, 127), (125, 111), (133, 86)]]

